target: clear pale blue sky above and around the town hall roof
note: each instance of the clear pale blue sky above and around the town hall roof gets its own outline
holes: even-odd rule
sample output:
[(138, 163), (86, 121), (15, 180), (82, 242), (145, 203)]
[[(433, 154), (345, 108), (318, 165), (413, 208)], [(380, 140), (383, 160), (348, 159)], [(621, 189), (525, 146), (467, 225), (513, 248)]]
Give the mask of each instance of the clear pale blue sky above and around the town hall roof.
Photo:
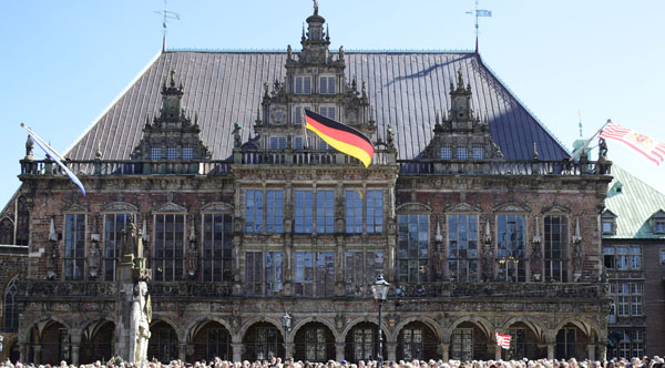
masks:
[[(472, 0), (319, 0), (331, 48), (469, 50)], [(24, 122), (64, 153), (161, 51), (161, 0), (10, 1), (0, 16), (2, 206), (19, 187)], [(566, 146), (607, 119), (665, 142), (665, 1), (481, 0), (480, 53)], [(170, 0), (174, 49), (299, 45), (310, 0)], [(595, 145), (595, 143), (594, 143)], [(617, 143), (610, 159), (665, 193), (655, 166)], [(41, 153), (39, 154), (41, 156)], [(595, 155), (594, 159), (595, 160)]]

